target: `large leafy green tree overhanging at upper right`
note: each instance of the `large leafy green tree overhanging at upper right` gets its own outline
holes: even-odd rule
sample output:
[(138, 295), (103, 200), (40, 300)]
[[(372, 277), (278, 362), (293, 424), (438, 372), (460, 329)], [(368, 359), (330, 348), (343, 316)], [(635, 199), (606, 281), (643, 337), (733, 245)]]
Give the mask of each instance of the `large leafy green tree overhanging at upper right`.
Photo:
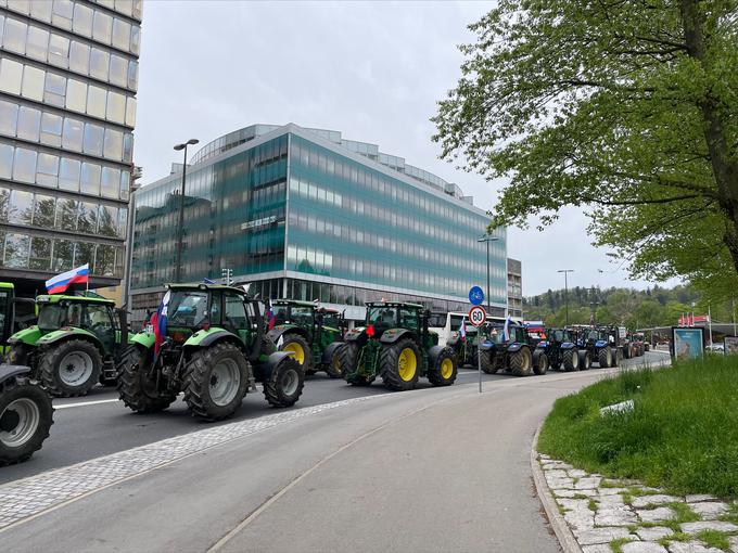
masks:
[(434, 117), (509, 176), (492, 227), (565, 205), (633, 276), (738, 287), (738, 0), (499, 0)]

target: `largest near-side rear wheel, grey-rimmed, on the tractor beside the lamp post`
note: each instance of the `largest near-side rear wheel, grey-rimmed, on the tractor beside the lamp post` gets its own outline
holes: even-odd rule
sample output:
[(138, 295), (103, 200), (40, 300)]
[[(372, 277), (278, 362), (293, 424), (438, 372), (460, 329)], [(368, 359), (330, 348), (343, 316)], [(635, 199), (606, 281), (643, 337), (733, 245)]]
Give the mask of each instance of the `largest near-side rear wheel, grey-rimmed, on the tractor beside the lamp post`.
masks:
[(246, 395), (249, 362), (236, 345), (220, 342), (192, 353), (183, 381), (192, 416), (220, 421), (232, 415)]

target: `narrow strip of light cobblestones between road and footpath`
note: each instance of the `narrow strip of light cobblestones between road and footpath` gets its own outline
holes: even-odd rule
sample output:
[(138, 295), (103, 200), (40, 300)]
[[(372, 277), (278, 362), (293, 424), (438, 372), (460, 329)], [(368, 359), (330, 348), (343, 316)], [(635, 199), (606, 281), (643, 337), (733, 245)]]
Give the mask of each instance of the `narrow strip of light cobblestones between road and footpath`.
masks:
[(334, 401), (196, 430), (0, 486), (0, 531), (13, 523), (204, 449), (374, 397)]

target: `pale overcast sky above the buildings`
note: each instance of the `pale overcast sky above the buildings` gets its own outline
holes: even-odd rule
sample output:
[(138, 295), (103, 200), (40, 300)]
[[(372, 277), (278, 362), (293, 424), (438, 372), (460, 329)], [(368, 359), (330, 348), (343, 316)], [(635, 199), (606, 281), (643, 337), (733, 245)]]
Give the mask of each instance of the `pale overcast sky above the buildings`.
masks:
[[(171, 150), (178, 142), (294, 123), (379, 144), (492, 208), (505, 182), (440, 160), (429, 120), (460, 75), (456, 46), (473, 40), (467, 25), (491, 5), (147, 1), (135, 150), (143, 182), (181, 160)], [(590, 245), (585, 227), (584, 216), (569, 210), (543, 233), (508, 231), (508, 255), (523, 262), (524, 295), (563, 287), (557, 269), (575, 270), (570, 286), (648, 285), (627, 281), (620, 263)]]

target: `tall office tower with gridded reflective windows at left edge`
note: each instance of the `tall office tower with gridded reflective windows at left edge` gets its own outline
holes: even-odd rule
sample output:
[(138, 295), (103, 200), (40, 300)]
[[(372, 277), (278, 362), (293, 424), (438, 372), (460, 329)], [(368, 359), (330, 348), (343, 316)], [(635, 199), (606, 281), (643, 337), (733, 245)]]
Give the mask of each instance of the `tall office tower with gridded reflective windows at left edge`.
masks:
[(0, 280), (43, 291), (90, 265), (117, 285), (141, 0), (0, 0)]

